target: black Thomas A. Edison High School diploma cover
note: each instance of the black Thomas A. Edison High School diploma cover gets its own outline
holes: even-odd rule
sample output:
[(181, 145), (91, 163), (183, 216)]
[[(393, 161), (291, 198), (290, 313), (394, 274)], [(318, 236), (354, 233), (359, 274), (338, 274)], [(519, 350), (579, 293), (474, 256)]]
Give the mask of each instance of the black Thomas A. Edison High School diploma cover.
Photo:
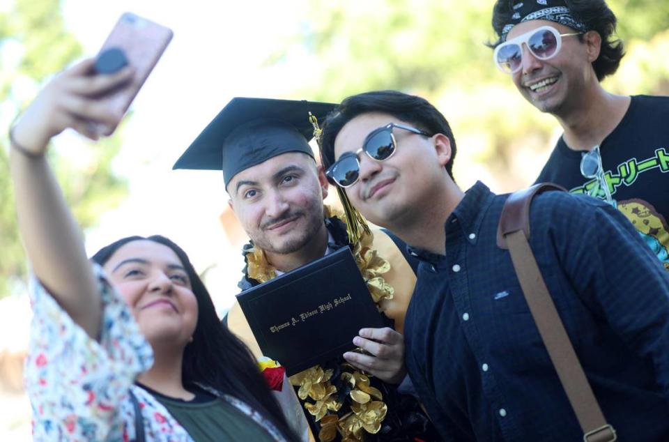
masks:
[(348, 247), (237, 300), (263, 355), (286, 367), (288, 376), (354, 349), (360, 328), (385, 326)]

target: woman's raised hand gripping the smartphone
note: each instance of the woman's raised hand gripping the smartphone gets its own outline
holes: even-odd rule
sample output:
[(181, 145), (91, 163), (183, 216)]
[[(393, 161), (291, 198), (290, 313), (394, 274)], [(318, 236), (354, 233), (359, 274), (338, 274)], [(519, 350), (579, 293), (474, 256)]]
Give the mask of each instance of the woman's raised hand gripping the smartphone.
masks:
[(116, 125), (123, 115), (96, 98), (132, 79), (132, 68), (111, 75), (91, 75), (94, 63), (95, 59), (86, 59), (44, 86), (15, 124), (12, 130), (15, 142), (29, 153), (39, 155), (45, 151), (49, 139), (67, 128), (98, 139), (95, 123)]

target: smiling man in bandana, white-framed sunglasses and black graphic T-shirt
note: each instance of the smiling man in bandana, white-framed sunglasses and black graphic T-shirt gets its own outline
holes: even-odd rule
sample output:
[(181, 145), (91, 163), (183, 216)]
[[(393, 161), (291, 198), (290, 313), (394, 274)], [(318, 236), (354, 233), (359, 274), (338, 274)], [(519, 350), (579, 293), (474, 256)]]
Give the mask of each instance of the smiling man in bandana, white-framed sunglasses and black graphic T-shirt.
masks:
[(624, 54), (615, 24), (604, 0), (497, 0), (493, 57), (564, 130), (537, 183), (617, 206), (669, 270), (669, 97), (602, 88)]

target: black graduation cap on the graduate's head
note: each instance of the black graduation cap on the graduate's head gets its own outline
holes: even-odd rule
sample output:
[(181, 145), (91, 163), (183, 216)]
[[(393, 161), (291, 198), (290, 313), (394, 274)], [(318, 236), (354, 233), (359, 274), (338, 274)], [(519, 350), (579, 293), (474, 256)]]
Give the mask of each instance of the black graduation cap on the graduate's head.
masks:
[(225, 185), (245, 169), (288, 152), (314, 156), (309, 140), (337, 105), (306, 100), (233, 98), (174, 163), (172, 169), (222, 170)]

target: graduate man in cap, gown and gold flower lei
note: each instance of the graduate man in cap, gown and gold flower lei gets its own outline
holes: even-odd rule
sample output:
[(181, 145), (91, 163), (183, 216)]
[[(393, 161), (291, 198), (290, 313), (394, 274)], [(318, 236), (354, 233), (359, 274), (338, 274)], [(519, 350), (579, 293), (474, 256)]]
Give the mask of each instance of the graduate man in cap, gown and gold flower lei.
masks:
[[(351, 244), (351, 224), (362, 228), (358, 225), (362, 218), (351, 213), (352, 208), (347, 215), (353, 220), (323, 204), (328, 181), (308, 144), (314, 130), (318, 130), (317, 122), (333, 108), (328, 103), (233, 98), (174, 165), (175, 169), (222, 169), (229, 205), (251, 238), (243, 250), (247, 265), (238, 284), (240, 289), (249, 289), (347, 247)], [(367, 284), (388, 327), (360, 330), (353, 342), (368, 354), (347, 352), (322, 369), (317, 366), (291, 376), (295, 387), (313, 383), (311, 390), (300, 388), (311, 429), (307, 436), (321, 441), (438, 440), (415, 397), (399, 393), (398, 388), (400, 384), (403, 389), (411, 388), (404, 367), (401, 332), (416, 281), (416, 261), (406, 253), (406, 245), (389, 232), (362, 228), (357, 236), (353, 242), (379, 258), (366, 260), (366, 270), (369, 274), (378, 273), (383, 282)], [(261, 356), (238, 303), (224, 323), (256, 357)], [(325, 379), (323, 372), (328, 369), (334, 374)], [(357, 382), (367, 382), (367, 376), (360, 376), (361, 370), (373, 375), (369, 376), (371, 384), (363, 388), (383, 396), (380, 400), (374, 398), (379, 404), (383, 402), (383, 409), (351, 413), (352, 406), (357, 408), (348, 395), (339, 406), (334, 400), (327, 402), (328, 398), (323, 398), (322, 393), (332, 386), (337, 392), (346, 390), (346, 383), (353, 377)], [(332, 395), (332, 399), (335, 397)]]

